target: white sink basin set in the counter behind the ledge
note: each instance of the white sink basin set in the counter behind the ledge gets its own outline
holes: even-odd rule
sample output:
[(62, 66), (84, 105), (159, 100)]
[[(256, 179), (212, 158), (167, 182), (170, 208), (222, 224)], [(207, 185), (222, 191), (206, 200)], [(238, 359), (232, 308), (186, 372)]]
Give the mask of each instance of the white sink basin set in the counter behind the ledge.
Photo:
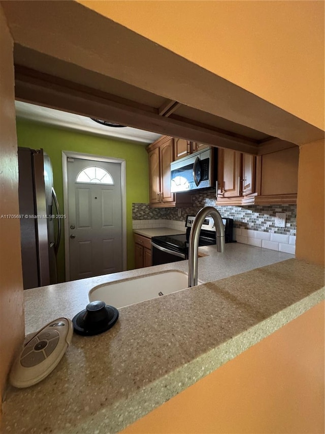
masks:
[(89, 291), (89, 301), (102, 300), (108, 305), (123, 307), (159, 297), (159, 293), (167, 295), (187, 287), (187, 274), (171, 270), (95, 286)]

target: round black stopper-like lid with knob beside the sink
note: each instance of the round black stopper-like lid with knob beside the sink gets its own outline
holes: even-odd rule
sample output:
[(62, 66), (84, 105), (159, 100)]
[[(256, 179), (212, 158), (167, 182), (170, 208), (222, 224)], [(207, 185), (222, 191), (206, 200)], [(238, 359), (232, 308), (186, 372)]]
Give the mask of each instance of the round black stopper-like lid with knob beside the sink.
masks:
[(86, 309), (73, 317), (73, 328), (80, 335), (98, 335), (113, 327), (118, 315), (116, 307), (109, 306), (104, 301), (92, 301)]

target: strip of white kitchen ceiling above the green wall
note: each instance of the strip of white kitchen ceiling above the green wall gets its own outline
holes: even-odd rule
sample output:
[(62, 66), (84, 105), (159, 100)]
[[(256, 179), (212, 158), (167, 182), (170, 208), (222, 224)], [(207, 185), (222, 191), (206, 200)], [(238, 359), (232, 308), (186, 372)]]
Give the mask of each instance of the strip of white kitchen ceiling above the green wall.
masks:
[(22, 101), (15, 101), (16, 117), (18, 119), (28, 119), (42, 124), (52, 125), (69, 130), (82, 131), (90, 134), (127, 140), (138, 144), (149, 144), (161, 137), (160, 134), (149, 131), (138, 130), (136, 128), (114, 128), (98, 124), (90, 118), (79, 114), (67, 113), (65, 111), (54, 110), (53, 108), (41, 107)]

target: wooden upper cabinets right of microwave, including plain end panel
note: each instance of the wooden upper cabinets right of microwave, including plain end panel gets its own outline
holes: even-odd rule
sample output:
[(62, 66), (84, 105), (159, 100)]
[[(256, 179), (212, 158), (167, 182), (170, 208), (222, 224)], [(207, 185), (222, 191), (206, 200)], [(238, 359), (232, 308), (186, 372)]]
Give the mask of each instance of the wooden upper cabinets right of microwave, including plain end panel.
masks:
[(299, 147), (263, 155), (218, 151), (217, 205), (296, 204)]

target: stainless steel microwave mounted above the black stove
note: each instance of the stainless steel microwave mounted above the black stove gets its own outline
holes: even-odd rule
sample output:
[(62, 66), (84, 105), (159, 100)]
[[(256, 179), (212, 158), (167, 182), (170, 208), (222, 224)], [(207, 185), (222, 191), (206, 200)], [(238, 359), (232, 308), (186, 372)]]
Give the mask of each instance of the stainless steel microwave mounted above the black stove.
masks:
[(217, 148), (209, 148), (171, 163), (171, 192), (215, 187)]

